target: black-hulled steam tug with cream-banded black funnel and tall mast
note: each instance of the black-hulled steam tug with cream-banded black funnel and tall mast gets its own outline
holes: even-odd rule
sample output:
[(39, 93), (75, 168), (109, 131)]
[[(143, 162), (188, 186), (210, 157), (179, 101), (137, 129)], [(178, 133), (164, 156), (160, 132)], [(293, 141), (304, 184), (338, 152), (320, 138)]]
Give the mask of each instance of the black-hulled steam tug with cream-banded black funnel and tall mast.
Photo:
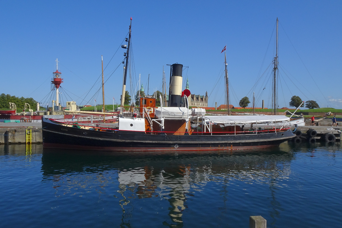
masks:
[(140, 97), (139, 106), (124, 110), (130, 40), (131, 26), (128, 45), (122, 45), (127, 48), (127, 52), (118, 126), (77, 124), (43, 118), (44, 148), (110, 151), (234, 150), (274, 147), (295, 137), (290, 130), (290, 118), (286, 116), (205, 116), (205, 109), (190, 110), (189, 94), (182, 92), (182, 64), (171, 65), (168, 107), (163, 107), (161, 96), (160, 107), (156, 107), (156, 97), (145, 96)]

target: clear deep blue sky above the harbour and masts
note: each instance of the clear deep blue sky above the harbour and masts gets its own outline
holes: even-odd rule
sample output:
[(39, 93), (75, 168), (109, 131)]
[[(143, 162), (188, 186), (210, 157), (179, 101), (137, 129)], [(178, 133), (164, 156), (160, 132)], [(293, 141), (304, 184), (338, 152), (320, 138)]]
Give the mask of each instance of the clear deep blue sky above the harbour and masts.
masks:
[[(251, 100), (255, 92), (256, 106), (264, 99), (270, 108), (267, 67), (278, 17), (279, 107), (298, 95), (342, 108), (341, 11), (341, 1), (1, 1), (0, 93), (44, 102), (58, 58), (64, 103), (70, 96), (79, 105), (93, 104), (99, 84), (85, 95), (101, 75), (101, 55), (106, 66), (132, 17), (135, 75), (129, 91), (139, 74), (144, 86), (150, 74), (149, 94), (161, 90), (162, 67), (168, 83), (166, 65), (177, 62), (188, 66), (183, 77), (192, 93), (208, 91), (209, 106), (223, 104), (221, 50), (227, 45), (231, 104), (246, 95)], [(106, 80), (119, 66), (105, 84), (106, 104), (120, 100), (123, 52), (119, 48), (104, 71)]]

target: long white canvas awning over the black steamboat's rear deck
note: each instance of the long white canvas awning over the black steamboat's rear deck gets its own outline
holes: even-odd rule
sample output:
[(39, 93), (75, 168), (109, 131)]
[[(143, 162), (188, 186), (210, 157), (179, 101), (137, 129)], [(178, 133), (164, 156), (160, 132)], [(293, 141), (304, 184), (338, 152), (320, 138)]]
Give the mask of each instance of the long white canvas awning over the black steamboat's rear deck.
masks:
[[(290, 121), (287, 116), (206, 116), (213, 123), (264, 123)], [(207, 120), (206, 120), (207, 121)]]

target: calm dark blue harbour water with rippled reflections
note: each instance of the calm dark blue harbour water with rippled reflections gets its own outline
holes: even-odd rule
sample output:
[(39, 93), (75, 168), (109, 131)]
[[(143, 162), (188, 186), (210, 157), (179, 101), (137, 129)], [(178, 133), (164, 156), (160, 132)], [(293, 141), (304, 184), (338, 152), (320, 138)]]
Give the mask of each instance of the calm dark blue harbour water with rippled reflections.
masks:
[(0, 227), (340, 227), (340, 143), (124, 155), (0, 146)]

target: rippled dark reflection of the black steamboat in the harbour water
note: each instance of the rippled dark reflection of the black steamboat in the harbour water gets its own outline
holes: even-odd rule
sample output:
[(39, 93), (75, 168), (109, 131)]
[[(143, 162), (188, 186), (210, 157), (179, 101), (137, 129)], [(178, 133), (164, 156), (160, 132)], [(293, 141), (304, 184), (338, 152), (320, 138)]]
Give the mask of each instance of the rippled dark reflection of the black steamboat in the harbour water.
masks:
[[(291, 159), (292, 153), (278, 148), (263, 152), (129, 156), (44, 150), (42, 171), (43, 182), (52, 184), (57, 197), (86, 196), (94, 191), (102, 200), (114, 196), (118, 202), (113, 202), (113, 207), (120, 206), (122, 210), (121, 227), (130, 227), (130, 221), (135, 220), (134, 214), (142, 213), (141, 209), (146, 213), (146, 221), (151, 218), (150, 213), (158, 213), (163, 225), (183, 227), (183, 214), (186, 210), (194, 210), (191, 201), (203, 197), (201, 192), (207, 185), (217, 184), (215, 194), (226, 199), (229, 186), (236, 186), (237, 182), (266, 184), (271, 188), (267, 198), (274, 201), (271, 204), (278, 204), (272, 187), (281, 187), (281, 181), (288, 178)], [(154, 203), (148, 199), (153, 199)], [(212, 200), (210, 191), (201, 200)], [(231, 206), (223, 201), (224, 206)], [(144, 218), (139, 219), (144, 221)]]

